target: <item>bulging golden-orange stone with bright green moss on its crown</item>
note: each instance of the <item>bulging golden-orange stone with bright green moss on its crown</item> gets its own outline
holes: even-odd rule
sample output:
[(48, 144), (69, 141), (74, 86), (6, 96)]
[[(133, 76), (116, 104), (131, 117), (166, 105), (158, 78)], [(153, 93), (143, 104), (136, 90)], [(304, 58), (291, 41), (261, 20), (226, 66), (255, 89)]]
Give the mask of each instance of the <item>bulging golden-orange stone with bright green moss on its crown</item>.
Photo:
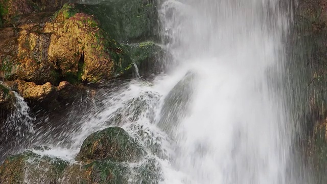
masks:
[(131, 60), (121, 45), (99, 27), (93, 15), (66, 4), (44, 32), (55, 33), (49, 45), (49, 62), (56, 63), (64, 77), (99, 82), (123, 74)]

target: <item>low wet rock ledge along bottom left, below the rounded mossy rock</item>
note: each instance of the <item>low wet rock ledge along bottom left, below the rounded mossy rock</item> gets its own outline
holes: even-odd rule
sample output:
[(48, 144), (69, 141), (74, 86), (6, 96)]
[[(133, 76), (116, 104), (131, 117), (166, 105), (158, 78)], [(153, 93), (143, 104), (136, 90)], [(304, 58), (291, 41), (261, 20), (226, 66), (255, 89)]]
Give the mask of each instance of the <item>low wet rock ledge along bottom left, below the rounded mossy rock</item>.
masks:
[(1, 183), (128, 183), (128, 165), (111, 160), (72, 164), (32, 151), (9, 156), (0, 166)]

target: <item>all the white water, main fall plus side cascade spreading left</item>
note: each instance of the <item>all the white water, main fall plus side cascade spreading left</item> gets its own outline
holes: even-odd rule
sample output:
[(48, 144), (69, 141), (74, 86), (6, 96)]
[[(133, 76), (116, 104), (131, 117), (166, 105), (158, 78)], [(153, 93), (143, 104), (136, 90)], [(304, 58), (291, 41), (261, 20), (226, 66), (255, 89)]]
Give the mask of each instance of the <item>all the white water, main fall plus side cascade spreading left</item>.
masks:
[(148, 151), (131, 168), (154, 160), (161, 183), (299, 183), (290, 175), (294, 132), (283, 83), (287, 7), (277, 0), (168, 0), (159, 13), (174, 70), (104, 92), (61, 133), (64, 141), (38, 153), (74, 160), (90, 133), (119, 125)]

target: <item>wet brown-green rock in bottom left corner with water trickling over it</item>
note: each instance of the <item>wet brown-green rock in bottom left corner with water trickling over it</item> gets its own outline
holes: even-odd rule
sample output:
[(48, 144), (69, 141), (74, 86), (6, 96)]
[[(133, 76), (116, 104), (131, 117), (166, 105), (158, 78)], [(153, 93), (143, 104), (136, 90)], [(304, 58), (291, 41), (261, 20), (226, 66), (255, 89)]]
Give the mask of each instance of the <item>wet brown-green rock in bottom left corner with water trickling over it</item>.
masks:
[(68, 163), (32, 151), (10, 156), (0, 166), (1, 183), (58, 183)]

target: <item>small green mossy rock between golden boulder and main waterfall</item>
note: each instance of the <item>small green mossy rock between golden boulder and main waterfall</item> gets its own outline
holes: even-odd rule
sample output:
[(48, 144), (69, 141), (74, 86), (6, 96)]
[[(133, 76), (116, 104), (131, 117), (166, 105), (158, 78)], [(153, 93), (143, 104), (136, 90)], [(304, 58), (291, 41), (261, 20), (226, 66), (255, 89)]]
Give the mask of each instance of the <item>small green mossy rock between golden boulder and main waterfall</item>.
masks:
[(165, 50), (152, 41), (126, 45), (132, 61), (137, 65), (141, 76), (164, 72)]

